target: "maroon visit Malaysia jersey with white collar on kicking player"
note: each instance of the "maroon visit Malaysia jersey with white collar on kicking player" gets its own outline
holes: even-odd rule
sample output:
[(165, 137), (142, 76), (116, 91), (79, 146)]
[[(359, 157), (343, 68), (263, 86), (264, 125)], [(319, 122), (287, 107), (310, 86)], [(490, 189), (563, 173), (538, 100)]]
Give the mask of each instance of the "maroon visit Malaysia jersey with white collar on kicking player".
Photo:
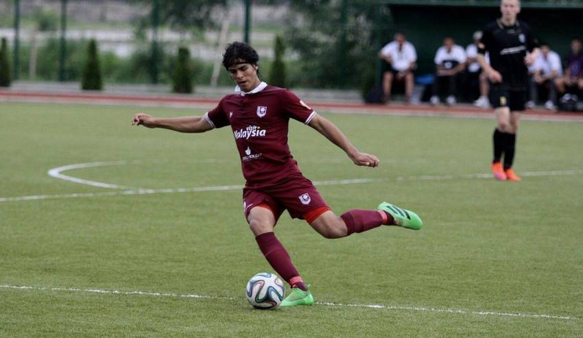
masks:
[(289, 118), (307, 124), (314, 115), (291, 91), (261, 82), (250, 93), (227, 95), (204, 117), (213, 128), (231, 126), (246, 186), (261, 188), (301, 175), (287, 145)]

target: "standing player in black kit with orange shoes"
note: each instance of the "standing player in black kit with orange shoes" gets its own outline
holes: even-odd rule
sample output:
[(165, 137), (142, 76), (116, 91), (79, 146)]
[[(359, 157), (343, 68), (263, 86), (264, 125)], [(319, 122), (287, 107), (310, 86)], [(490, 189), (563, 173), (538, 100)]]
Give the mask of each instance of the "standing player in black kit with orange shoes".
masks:
[[(502, 15), (482, 29), (477, 56), (490, 80), (490, 104), (495, 109), (497, 119), (491, 165), (497, 180), (521, 180), (512, 170), (516, 130), (519, 128), (520, 113), (525, 110), (527, 66), (538, 56), (536, 38), (530, 27), (516, 19), (520, 11), (519, 0), (500, 1)], [(486, 51), (490, 55), (490, 64), (484, 59)]]

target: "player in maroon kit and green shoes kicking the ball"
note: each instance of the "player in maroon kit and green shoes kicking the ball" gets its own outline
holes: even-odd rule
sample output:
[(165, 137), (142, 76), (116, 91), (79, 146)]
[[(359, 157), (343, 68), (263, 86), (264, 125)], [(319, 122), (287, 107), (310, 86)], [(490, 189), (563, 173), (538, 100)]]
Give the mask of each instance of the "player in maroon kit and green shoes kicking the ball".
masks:
[(243, 212), (259, 249), (292, 287), (281, 306), (311, 305), (307, 289), (292, 259), (274, 234), (285, 209), (292, 218), (305, 219), (323, 237), (334, 239), (381, 225), (418, 230), (421, 219), (410, 210), (383, 202), (377, 210), (349, 210), (338, 217), (316, 187), (305, 178), (287, 145), (289, 119), (309, 125), (340, 147), (355, 165), (377, 167), (377, 156), (359, 152), (331, 121), (324, 119), (294, 93), (259, 80), (259, 56), (245, 43), (226, 47), (223, 65), (237, 84), (235, 94), (224, 97), (204, 116), (154, 118), (138, 113), (132, 125), (166, 128), (177, 132), (206, 132), (230, 125), (246, 179)]

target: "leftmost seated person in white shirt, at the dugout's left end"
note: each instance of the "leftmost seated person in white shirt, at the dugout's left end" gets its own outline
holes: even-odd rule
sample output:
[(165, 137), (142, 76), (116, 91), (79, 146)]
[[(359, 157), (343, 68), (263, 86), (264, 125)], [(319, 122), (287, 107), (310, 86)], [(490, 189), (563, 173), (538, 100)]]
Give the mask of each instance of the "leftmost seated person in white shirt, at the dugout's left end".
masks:
[(390, 71), (383, 75), (383, 93), (385, 102), (391, 99), (392, 84), (394, 81), (405, 85), (405, 100), (411, 100), (413, 93), (413, 70), (417, 67), (417, 52), (412, 43), (405, 40), (405, 34), (396, 33), (394, 41), (388, 43), (379, 51), (379, 58), (390, 64)]

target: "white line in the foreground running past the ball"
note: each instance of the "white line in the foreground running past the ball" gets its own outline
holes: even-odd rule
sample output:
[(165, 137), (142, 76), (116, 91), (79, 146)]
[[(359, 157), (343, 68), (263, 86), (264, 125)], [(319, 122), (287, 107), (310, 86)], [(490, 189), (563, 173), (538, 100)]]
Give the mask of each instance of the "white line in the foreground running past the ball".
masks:
[[(242, 300), (241, 297), (227, 297), (218, 295), (197, 295), (193, 293), (165, 293), (165, 292), (149, 292), (149, 291), (118, 291), (118, 290), (103, 290), (103, 289), (80, 289), (76, 287), (29, 287), (24, 285), (0, 285), (0, 289), (16, 289), (16, 290), (38, 290), (38, 291), (66, 291), (66, 292), (84, 292), (84, 293), (100, 293), (108, 295), (145, 295), (150, 297), (172, 297), (172, 298), (198, 298), (211, 300)], [(522, 317), (535, 319), (567, 319), (578, 320), (578, 317), (566, 315), (546, 315), (546, 314), (532, 314), (532, 313), (512, 313), (512, 312), (498, 312), (498, 311), (472, 311), (462, 309), (439, 309), (424, 306), (390, 306), (378, 304), (342, 304), (333, 302), (316, 302), (322, 306), (338, 306), (338, 307), (356, 307), (366, 309), (381, 309), (381, 310), (403, 310), (403, 311), (426, 311), (436, 313), (452, 313), (462, 315), (493, 315), (504, 317)]]

